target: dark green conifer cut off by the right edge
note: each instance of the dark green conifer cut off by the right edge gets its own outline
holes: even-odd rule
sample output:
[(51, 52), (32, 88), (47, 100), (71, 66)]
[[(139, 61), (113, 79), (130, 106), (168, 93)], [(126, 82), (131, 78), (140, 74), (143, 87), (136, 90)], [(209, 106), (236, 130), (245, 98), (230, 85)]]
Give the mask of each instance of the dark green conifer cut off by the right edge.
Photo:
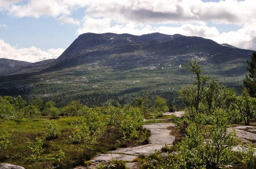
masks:
[(249, 71), (249, 76), (246, 75), (243, 79), (244, 87), (247, 88), (251, 97), (256, 97), (256, 52), (251, 55), (251, 60), (247, 61), (246, 67)]

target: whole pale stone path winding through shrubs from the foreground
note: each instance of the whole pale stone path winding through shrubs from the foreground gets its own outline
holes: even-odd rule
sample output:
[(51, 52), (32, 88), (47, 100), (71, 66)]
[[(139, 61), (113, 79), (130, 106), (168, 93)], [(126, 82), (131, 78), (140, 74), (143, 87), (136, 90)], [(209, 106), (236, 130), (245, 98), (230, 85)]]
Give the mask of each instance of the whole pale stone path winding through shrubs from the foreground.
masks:
[[(145, 128), (151, 131), (151, 136), (149, 138), (149, 144), (128, 148), (119, 148), (115, 151), (109, 152), (109, 154), (100, 154), (91, 160), (95, 165), (102, 161), (111, 161), (111, 159), (121, 160), (121, 161), (134, 161), (139, 155), (150, 155), (154, 153), (154, 149), (160, 150), (163, 144), (172, 145), (175, 137), (169, 135), (170, 130), (168, 127), (174, 127), (172, 123), (160, 123), (160, 124), (145, 124)], [(127, 163), (128, 167), (131, 169), (137, 169), (136, 163)]]

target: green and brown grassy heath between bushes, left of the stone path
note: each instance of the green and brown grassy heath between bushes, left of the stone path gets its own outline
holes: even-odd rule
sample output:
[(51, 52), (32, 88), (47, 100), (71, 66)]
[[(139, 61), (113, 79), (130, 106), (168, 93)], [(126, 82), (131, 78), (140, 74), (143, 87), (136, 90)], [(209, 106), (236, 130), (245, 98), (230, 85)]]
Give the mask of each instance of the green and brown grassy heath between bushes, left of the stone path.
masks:
[[(106, 123), (108, 115), (99, 115), (99, 119)], [(117, 127), (105, 126), (106, 130), (101, 138), (99, 144), (96, 144), (93, 149), (85, 148), (85, 144), (69, 144), (68, 138), (75, 125), (73, 123), (81, 119), (79, 116), (66, 117), (63, 116), (59, 119), (52, 120), (58, 129), (61, 130), (61, 135), (55, 140), (44, 140), (44, 152), (39, 155), (38, 160), (32, 159), (30, 155), (35, 154), (26, 145), (26, 142), (35, 142), (35, 138), (44, 138), (43, 124), (47, 120), (46, 116), (42, 118), (29, 120), (27, 118), (13, 119), (13, 120), (0, 120), (0, 135), (4, 130), (11, 133), (10, 142), (11, 146), (4, 152), (0, 152), (0, 163), (12, 163), (15, 165), (23, 166), (26, 169), (44, 168), (51, 169), (55, 166), (60, 169), (70, 169), (75, 166), (84, 165), (86, 161), (93, 158), (98, 153), (106, 153), (110, 150), (115, 150), (122, 146), (140, 145), (145, 144), (145, 141), (117, 141), (122, 137)], [(148, 130), (147, 139), (150, 136)], [(147, 140), (146, 139), (146, 140)], [(58, 162), (55, 158), (59, 151), (62, 150), (65, 157), (62, 161)]]

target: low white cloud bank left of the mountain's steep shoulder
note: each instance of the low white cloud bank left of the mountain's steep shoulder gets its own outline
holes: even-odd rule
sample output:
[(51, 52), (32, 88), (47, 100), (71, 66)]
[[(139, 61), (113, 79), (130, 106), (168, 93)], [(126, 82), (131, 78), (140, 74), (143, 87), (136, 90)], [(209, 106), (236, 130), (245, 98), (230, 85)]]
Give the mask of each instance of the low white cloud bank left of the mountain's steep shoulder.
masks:
[(65, 49), (49, 49), (42, 51), (40, 48), (31, 46), (29, 48), (17, 48), (0, 39), (0, 58), (15, 59), (26, 62), (39, 62), (45, 59), (55, 59), (60, 56)]

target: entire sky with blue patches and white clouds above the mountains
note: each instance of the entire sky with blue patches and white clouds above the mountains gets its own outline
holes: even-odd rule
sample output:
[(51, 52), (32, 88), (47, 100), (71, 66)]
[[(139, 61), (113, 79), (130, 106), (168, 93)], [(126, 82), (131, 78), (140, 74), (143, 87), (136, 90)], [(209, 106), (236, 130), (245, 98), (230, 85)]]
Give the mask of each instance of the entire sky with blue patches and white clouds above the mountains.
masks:
[(87, 32), (183, 34), (256, 50), (256, 0), (0, 0), (0, 58), (57, 58)]

